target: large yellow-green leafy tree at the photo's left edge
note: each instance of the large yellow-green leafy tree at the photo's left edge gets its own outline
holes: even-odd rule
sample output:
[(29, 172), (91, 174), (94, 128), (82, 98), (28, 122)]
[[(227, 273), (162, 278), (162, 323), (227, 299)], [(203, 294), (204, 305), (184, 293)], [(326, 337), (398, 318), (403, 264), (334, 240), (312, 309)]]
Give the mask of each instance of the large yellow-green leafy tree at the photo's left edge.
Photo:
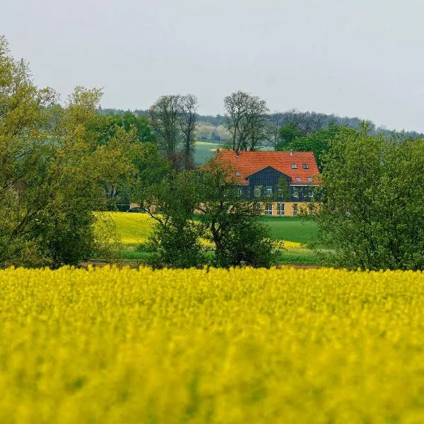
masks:
[(102, 193), (86, 123), (100, 96), (77, 87), (59, 107), (0, 37), (0, 266), (57, 268), (95, 252), (92, 211)]

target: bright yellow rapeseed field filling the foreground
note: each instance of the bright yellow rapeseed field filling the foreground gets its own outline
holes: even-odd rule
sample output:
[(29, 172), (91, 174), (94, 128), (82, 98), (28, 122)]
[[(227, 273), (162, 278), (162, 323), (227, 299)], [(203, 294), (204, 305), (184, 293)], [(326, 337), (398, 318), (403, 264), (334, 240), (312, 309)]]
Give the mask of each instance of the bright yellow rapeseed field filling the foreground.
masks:
[(0, 271), (0, 423), (424, 423), (424, 273)]

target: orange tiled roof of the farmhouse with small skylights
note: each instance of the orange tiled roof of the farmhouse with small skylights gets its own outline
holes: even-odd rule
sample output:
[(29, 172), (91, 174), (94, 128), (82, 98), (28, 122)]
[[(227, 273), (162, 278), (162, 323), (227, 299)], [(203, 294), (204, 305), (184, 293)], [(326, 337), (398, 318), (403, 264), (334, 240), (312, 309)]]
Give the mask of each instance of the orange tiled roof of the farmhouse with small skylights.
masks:
[[(235, 172), (235, 176), (240, 184), (248, 184), (246, 177), (254, 174), (266, 167), (273, 167), (275, 170), (283, 172), (291, 178), (290, 184), (314, 184), (317, 185), (317, 176), (319, 170), (312, 152), (245, 152), (239, 151), (235, 155), (234, 151), (220, 150), (216, 158), (228, 162)], [(304, 169), (303, 164), (306, 163), (309, 168)], [(292, 168), (292, 164), (298, 166), (297, 169)], [(240, 175), (239, 175), (240, 174)], [(307, 178), (313, 179), (308, 182)], [(296, 180), (300, 178), (300, 182)]]

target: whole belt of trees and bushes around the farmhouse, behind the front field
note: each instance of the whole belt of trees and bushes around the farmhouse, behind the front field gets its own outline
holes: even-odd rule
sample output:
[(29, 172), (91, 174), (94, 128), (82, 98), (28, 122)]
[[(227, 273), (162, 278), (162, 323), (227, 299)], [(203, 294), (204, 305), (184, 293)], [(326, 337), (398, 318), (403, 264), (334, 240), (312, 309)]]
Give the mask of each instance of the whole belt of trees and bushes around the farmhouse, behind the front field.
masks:
[[(102, 90), (76, 87), (61, 102), (51, 88), (37, 88), (0, 37), (0, 266), (105, 257), (119, 241), (100, 212), (129, 200), (157, 223), (155, 266), (272, 264), (269, 230), (254, 203), (237, 197), (234, 172), (194, 166), (194, 95), (164, 95), (148, 115), (101, 113), (101, 98)], [(322, 170), (316, 219), (329, 264), (424, 269), (423, 139), (319, 114), (279, 117), (242, 91), (224, 105), (235, 152), (270, 139), (276, 150), (314, 151)], [(213, 258), (201, 239), (213, 243)]]

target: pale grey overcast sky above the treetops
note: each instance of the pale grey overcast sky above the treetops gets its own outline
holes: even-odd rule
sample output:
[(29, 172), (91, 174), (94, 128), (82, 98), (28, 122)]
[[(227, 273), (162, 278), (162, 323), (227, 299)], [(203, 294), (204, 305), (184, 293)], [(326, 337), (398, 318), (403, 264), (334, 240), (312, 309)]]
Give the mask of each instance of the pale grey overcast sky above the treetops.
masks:
[(424, 131), (424, 0), (9, 0), (0, 33), (35, 83), (102, 107), (193, 93), (223, 113), (245, 90), (271, 110), (314, 110)]

